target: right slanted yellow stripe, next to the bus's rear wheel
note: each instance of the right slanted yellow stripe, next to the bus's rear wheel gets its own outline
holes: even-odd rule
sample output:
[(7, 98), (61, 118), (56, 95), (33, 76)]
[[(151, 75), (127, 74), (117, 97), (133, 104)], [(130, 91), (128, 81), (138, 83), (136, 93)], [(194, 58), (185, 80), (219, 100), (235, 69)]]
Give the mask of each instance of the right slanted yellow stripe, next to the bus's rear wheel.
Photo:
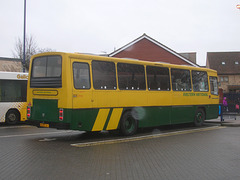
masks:
[(117, 129), (123, 108), (114, 108), (106, 130)]

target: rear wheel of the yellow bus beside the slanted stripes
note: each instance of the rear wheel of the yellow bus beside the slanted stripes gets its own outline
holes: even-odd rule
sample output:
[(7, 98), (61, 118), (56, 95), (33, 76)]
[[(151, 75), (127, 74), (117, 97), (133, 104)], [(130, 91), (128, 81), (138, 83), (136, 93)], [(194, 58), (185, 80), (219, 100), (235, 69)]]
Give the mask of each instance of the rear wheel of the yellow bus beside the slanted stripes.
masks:
[(120, 121), (121, 133), (125, 136), (130, 136), (136, 133), (137, 128), (137, 120), (133, 118), (131, 111), (125, 112)]

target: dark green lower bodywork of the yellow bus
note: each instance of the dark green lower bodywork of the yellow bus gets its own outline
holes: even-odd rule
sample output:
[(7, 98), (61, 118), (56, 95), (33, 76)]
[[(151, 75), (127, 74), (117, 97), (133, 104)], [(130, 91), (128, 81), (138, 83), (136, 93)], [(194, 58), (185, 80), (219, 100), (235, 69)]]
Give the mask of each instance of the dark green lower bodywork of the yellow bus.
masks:
[[(197, 108), (202, 108), (205, 111), (206, 119), (218, 117), (218, 105), (134, 107), (124, 108), (122, 113), (131, 110), (132, 116), (139, 122), (138, 127), (142, 128), (193, 122)], [(109, 108), (105, 115), (104, 111), (101, 112), (99, 109), (64, 109), (63, 121), (59, 121), (57, 100), (34, 99), (30, 120), (57, 124), (69, 123), (72, 130), (91, 131), (97, 117), (102, 123), (102, 129), (106, 129), (113, 109)], [(104, 115), (104, 118), (101, 115)], [(116, 121), (119, 121), (120, 116)]]

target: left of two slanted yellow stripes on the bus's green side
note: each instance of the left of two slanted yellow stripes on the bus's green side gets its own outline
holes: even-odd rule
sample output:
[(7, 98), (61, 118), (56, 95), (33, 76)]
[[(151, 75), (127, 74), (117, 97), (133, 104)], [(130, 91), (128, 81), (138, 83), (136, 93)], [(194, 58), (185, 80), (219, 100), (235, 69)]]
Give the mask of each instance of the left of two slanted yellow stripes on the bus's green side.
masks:
[(101, 131), (104, 128), (110, 109), (100, 109), (93, 125), (92, 131)]

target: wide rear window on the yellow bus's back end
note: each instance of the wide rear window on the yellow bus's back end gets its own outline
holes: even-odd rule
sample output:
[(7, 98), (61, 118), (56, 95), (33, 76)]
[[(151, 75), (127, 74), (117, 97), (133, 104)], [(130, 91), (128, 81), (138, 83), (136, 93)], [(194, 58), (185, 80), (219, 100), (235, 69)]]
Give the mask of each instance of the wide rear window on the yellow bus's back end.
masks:
[(37, 57), (32, 64), (32, 77), (61, 77), (61, 56)]

